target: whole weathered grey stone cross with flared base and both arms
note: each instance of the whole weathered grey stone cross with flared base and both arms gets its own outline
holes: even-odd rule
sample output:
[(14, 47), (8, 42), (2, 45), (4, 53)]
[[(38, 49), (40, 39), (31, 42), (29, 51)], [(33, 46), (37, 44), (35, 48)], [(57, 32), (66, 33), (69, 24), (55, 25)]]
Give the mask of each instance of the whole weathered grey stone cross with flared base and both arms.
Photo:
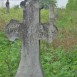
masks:
[(21, 38), (23, 43), (15, 77), (44, 77), (40, 63), (39, 40), (51, 43), (57, 33), (51, 5), (49, 12), (49, 24), (40, 24), (39, 3), (37, 0), (29, 0), (23, 9), (23, 22), (12, 19), (6, 26), (8, 38), (11, 41)]

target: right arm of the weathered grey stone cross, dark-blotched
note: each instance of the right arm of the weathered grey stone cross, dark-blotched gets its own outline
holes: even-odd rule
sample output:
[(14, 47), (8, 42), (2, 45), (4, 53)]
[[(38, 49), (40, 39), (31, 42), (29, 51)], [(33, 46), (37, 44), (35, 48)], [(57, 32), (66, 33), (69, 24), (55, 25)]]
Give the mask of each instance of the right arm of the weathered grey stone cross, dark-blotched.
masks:
[(56, 37), (58, 29), (55, 24), (41, 24), (39, 25), (39, 39), (46, 40), (51, 43)]

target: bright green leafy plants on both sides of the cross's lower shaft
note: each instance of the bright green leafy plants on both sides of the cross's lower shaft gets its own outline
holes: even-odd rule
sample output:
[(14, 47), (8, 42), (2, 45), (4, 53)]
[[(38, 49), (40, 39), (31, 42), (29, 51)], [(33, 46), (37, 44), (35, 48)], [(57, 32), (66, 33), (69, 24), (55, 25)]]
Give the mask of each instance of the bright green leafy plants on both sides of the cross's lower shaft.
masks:
[[(4, 33), (0, 33), (0, 77), (14, 77), (20, 61), (21, 42), (8, 41)], [(52, 45), (41, 41), (41, 62), (45, 77), (76, 77), (77, 46), (65, 51), (54, 49)]]

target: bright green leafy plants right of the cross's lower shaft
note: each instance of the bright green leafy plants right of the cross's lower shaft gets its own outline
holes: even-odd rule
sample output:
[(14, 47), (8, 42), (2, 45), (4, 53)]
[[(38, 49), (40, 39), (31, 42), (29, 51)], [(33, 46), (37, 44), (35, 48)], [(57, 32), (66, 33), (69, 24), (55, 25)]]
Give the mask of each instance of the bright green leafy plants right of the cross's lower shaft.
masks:
[(41, 60), (45, 77), (76, 77), (77, 50), (54, 49), (51, 45), (41, 44)]

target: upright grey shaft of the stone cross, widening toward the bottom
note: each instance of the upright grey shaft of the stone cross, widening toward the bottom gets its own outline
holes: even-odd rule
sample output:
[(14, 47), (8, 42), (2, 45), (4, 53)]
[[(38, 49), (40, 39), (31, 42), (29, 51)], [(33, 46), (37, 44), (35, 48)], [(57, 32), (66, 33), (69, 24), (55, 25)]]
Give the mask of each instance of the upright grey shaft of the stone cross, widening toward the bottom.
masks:
[(30, 1), (24, 9), (23, 48), (16, 77), (43, 77), (39, 60), (38, 2)]

